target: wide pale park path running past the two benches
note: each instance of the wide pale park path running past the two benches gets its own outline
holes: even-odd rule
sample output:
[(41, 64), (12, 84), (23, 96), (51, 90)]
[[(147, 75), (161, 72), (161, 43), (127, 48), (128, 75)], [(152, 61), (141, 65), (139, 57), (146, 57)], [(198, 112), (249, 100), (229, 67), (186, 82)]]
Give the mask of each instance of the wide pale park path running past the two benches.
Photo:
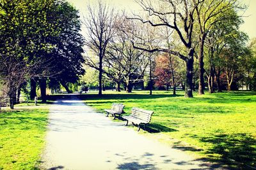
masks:
[(76, 96), (57, 101), (49, 114), (42, 169), (209, 169), (125, 122), (109, 120)]

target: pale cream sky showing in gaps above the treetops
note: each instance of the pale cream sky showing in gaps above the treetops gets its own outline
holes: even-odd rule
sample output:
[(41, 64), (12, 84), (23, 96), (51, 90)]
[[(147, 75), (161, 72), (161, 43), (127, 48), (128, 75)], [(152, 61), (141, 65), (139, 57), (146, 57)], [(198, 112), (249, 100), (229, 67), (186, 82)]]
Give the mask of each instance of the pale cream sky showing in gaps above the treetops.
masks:
[[(89, 3), (95, 3), (93, 0), (68, 0), (70, 3), (76, 6), (77, 10), (81, 14), (86, 14), (87, 5)], [(103, 0), (104, 1), (104, 0)], [(116, 10), (136, 11), (141, 10), (140, 6), (134, 2), (134, 0), (105, 0), (109, 5), (115, 6)], [(244, 31), (248, 36), (256, 38), (256, 0), (240, 0), (241, 3), (248, 5), (248, 9), (243, 14), (244, 24), (241, 25), (241, 31)]]

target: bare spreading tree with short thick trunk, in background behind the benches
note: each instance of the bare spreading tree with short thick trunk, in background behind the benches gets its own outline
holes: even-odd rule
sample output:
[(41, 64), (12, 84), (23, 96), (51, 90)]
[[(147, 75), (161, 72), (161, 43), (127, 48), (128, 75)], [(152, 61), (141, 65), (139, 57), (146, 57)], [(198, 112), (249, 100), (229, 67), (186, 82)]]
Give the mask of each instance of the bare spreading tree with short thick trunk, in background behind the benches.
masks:
[(136, 31), (138, 31), (136, 23), (123, 20), (115, 38), (111, 41), (107, 52), (108, 57), (106, 57), (108, 66), (104, 69), (109, 77), (117, 76), (113, 78), (116, 82), (120, 82), (120, 76), (122, 76), (121, 81), (124, 81), (127, 92), (132, 92), (132, 86), (143, 81), (143, 75), (148, 66), (145, 52), (134, 49), (130, 41), (130, 39), (138, 39)]

